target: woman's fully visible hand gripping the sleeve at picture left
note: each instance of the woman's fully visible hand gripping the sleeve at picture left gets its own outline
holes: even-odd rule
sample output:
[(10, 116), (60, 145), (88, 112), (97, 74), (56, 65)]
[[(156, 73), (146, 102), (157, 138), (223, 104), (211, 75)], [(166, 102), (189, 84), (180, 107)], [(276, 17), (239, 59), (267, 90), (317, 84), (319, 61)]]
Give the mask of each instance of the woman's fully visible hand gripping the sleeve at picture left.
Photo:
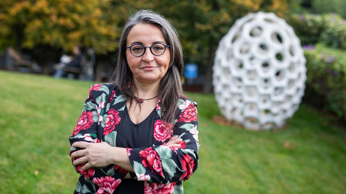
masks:
[(106, 142), (75, 142), (72, 146), (84, 148), (71, 154), (71, 158), (80, 157), (73, 162), (74, 165), (85, 163), (84, 166), (81, 167), (83, 171), (91, 167), (103, 167), (112, 164), (113, 154), (111, 152), (115, 147), (110, 146)]

